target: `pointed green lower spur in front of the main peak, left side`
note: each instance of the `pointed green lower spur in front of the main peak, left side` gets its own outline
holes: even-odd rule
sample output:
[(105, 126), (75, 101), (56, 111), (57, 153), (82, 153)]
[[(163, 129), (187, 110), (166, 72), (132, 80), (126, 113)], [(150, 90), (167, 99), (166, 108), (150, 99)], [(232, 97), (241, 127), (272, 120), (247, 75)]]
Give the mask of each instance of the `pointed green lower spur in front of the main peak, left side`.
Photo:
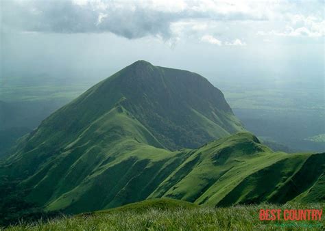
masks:
[[(159, 178), (168, 175), (186, 155), (150, 146), (160, 144), (128, 114), (117, 106), (84, 129), (60, 154), (43, 156), (40, 167), (20, 184), (32, 188), (27, 197), (29, 202), (49, 204), (49, 209), (81, 212), (147, 198)], [(19, 159), (16, 157), (7, 169), (19, 172), (22, 171), (17, 169), (19, 163), (42, 159), (39, 155), (33, 159), (37, 151), (38, 148)], [(31, 165), (30, 162), (27, 167)], [(27, 167), (25, 171), (30, 169)], [(124, 196), (128, 185), (141, 191)]]

